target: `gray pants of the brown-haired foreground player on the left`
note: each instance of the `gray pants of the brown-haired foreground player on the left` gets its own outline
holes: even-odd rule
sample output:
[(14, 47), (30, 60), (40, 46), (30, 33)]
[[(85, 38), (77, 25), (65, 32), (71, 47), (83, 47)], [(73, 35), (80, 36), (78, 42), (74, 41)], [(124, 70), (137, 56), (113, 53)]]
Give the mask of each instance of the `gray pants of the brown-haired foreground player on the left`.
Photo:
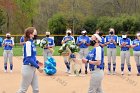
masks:
[(35, 67), (30, 65), (22, 66), (22, 82), (17, 93), (26, 93), (30, 85), (32, 86), (33, 93), (39, 93), (38, 77), (35, 72)]

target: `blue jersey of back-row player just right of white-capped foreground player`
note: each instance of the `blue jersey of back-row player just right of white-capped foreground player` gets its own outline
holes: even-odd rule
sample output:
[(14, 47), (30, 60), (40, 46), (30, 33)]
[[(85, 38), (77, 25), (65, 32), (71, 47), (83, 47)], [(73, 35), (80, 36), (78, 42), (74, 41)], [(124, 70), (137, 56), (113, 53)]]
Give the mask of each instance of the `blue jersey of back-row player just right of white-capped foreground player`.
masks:
[[(118, 36), (117, 35), (114, 35), (114, 36), (107, 35), (105, 37), (105, 42), (109, 42), (112, 39), (115, 40), (116, 43), (118, 43)], [(116, 48), (116, 45), (114, 43), (110, 43), (107, 45), (107, 48)]]

